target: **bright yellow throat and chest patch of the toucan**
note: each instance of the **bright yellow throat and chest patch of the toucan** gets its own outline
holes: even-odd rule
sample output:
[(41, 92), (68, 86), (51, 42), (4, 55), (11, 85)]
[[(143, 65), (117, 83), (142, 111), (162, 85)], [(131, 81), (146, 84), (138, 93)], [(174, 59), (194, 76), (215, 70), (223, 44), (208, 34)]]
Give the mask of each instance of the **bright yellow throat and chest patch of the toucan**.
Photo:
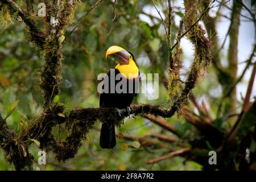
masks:
[(139, 75), (139, 68), (133, 59), (129, 60), (129, 64), (116, 65), (115, 69), (118, 69), (118, 71), (127, 79), (137, 78)]

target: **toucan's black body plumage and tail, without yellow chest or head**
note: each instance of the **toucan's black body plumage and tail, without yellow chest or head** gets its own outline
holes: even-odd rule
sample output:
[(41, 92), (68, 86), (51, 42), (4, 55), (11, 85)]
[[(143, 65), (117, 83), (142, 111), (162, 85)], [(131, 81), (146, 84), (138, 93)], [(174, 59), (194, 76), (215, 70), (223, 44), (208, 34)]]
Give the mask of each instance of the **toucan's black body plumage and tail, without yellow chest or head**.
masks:
[[(131, 102), (133, 101), (133, 98), (137, 96), (137, 93), (135, 92), (135, 89), (138, 88), (138, 85), (135, 86), (135, 84), (138, 84), (139, 82), (139, 76), (138, 78), (133, 78), (132, 80), (128, 80), (125, 77), (122, 77), (121, 79), (127, 79), (127, 92), (129, 92), (129, 81), (130, 84), (133, 82), (133, 92), (132, 93), (117, 93), (116, 90), (114, 90), (114, 93), (110, 93), (111, 83), (114, 82), (114, 85), (117, 85), (120, 80), (113, 79), (117, 74), (120, 72), (118, 69), (112, 69), (112, 72), (114, 73), (114, 77), (110, 76), (111, 70), (108, 72), (108, 78), (109, 78), (109, 92), (108, 93), (101, 93), (100, 95), (100, 107), (115, 107), (118, 109), (126, 109), (127, 106), (130, 106)], [(112, 73), (112, 74), (113, 74)], [(106, 79), (104, 80), (105, 84)], [(104, 89), (104, 86), (103, 86)], [(102, 124), (101, 127), (101, 136), (100, 136), (100, 146), (101, 148), (113, 148), (116, 144), (115, 140), (115, 127), (113, 125), (113, 121), (106, 121)]]

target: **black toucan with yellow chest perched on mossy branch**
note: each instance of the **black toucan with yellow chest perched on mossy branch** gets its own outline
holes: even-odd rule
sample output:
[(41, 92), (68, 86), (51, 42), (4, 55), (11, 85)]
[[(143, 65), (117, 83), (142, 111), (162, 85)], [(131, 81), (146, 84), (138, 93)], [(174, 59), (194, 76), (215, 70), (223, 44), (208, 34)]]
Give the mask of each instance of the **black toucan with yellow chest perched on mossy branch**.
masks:
[[(138, 93), (139, 83), (139, 68), (135, 63), (133, 53), (126, 51), (119, 46), (111, 46), (106, 51), (106, 59), (113, 57), (118, 64), (115, 69), (110, 69), (104, 78), (102, 89), (108, 86), (107, 92), (100, 94), (100, 107), (113, 107), (117, 110), (119, 116), (121, 116), (121, 109), (127, 109), (130, 113), (130, 104), (133, 98)], [(120, 81), (125, 81), (120, 84)], [(117, 90), (114, 86), (119, 83), (120, 90)], [(115, 140), (115, 126), (113, 125), (113, 119), (109, 119), (102, 123), (100, 146), (101, 148), (113, 148), (116, 145)]]

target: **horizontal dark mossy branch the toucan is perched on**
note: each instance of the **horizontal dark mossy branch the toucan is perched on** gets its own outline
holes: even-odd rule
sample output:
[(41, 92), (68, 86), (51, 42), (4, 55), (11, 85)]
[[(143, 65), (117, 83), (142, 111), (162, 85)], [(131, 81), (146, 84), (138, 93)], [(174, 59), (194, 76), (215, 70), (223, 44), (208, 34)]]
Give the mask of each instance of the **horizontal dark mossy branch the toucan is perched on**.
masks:
[[(175, 110), (175, 107), (164, 109), (157, 105), (134, 105), (131, 106), (130, 114), (171, 117)], [(65, 117), (61, 117), (58, 115), (59, 113), (63, 113)], [(26, 143), (27, 146), (32, 142), (30, 139), (39, 140), (40, 148), (53, 151), (56, 154), (56, 160), (64, 162), (76, 155), (81, 141), (86, 139), (86, 134), (89, 133), (97, 120), (105, 122), (109, 120), (108, 118), (112, 118), (113, 124), (120, 126), (123, 119), (128, 116), (126, 109), (122, 109), (121, 113), (121, 117), (119, 117), (114, 108), (82, 108), (64, 113), (63, 106), (56, 105), (52, 109), (48, 107), (27, 129), (22, 130), (15, 140), (17, 143)], [(52, 128), (62, 123), (65, 123), (68, 135), (64, 141), (57, 141), (52, 135)]]

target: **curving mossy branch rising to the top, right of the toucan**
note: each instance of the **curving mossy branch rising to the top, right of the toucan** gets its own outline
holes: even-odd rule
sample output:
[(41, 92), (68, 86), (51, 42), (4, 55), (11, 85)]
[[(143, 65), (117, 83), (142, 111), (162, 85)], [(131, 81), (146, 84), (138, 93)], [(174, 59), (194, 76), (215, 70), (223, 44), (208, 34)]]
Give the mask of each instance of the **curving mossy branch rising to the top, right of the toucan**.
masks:
[[(172, 108), (173, 108), (172, 111), (174, 111), (174, 113), (177, 110), (179, 110), (180, 107), (185, 102), (187, 102), (189, 93), (193, 88), (195, 88), (195, 85), (199, 76), (204, 75), (204, 72), (208, 68), (211, 60), (210, 59), (210, 41), (205, 37), (204, 35), (205, 31), (203, 30), (201, 25), (198, 23), (201, 17), (208, 12), (210, 7), (207, 10), (205, 10), (204, 13), (198, 18), (197, 8), (196, 8), (198, 7), (197, 1), (184, 1), (184, 6), (185, 6), (185, 16), (183, 21), (185, 24), (185, 33), (180, 35), (174, 47), (177, 46), (177, 44), (179, 44), (179, 40), (182, 38), (182, 36), (187, 35), (188, 39), (191, 40), (191, 42), (194, 44), (195, 58), (191, 67), (191, 71), (188, 74), (187, 80), (185, 81), (185, 86), (182, 89), (179, 97), (176, 98), (176, 100), (174, 101), (174, 104), (172, 105)], [(181, 27), (182, 25), (180, 25), (180, 29)], [(179, 51), (179, 48), (178, 48), (178, 51)], [(177, 57), (179, 57), (179, 55), (176, 55), (176, 58)], [(176, 59), (176, 61), (179, 61), (179, 59)], [(177, 63), (177, 64), (181, 64), (181, 63)], [(178, 71), (179, 71), (179, 66), (177, 65), (176, 72)], [(172, 73), (170, 81), (175, 80), (174, 76), (175, 76), (175, 72)], [(169, 82), (169, 85), (170, 84), (172, 84), (172, 82)]]

